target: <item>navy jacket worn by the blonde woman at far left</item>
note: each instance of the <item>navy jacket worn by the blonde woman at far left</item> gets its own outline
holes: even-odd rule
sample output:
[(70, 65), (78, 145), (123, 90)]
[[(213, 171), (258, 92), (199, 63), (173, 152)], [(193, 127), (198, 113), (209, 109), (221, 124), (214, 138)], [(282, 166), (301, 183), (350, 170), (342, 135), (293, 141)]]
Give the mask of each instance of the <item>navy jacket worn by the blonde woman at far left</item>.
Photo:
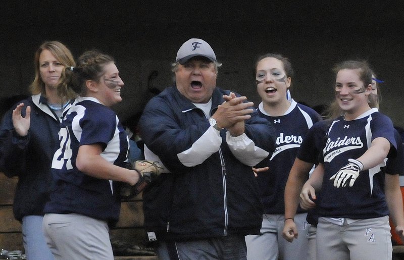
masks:
[[(22, 111), (31, 107), (28, 135), (20, 137), (13, 127), (12, 113), (23, 102)], [(66, 108), (70, 108), (70, 105)], [(43, 215), (51, 185), (51, 163), (58, 143), (60, 119), (47, 106), (46, 98), (33, 95), (18, 102), (3, 117), (0, 128), (0, 171), (7, 177), (18, 176), (14, 196), (14, 217)]]

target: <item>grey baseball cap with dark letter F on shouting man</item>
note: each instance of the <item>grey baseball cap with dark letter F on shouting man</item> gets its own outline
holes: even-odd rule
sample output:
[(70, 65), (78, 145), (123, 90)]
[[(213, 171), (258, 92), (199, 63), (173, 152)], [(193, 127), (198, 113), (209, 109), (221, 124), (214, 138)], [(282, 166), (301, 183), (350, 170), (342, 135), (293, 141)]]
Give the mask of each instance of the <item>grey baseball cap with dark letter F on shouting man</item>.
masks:
[(216, 62), (216, 55), (211, 45), (202, 39), (196, 38), (189, 39), (181, 45), (181, 47), (178, 49), (175, 62), (184, 64), (186, 61), (195, 56), (203, 56), (212, 62)]

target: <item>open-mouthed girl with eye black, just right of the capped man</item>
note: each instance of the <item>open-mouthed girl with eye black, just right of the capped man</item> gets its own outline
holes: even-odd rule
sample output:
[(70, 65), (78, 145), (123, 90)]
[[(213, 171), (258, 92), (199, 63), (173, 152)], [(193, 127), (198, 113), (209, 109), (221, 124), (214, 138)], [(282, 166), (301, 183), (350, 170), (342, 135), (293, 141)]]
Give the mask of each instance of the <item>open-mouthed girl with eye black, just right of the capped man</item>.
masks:
[(258, 111), (276, 130), (276, 148), (268, 163), (269, 170), (256, 172), (264, 216), (262, 234), (245, 237), (248, 259), (299, 259), (301, 255), (307, 255), (305, 236), (294, 243), (282, 238), (286, 221), (294, 221), (301, 233), (309, 227), (307, 213), (301, 209), (294, 219), (284, 219), (284, 187), (306, 132), (321, 120), (321, 116), (313, 109), (287, 98), (292, 76), (293, 70), (287, 58), (267, 54), (258, 59), (256, 82), (262, 98)]

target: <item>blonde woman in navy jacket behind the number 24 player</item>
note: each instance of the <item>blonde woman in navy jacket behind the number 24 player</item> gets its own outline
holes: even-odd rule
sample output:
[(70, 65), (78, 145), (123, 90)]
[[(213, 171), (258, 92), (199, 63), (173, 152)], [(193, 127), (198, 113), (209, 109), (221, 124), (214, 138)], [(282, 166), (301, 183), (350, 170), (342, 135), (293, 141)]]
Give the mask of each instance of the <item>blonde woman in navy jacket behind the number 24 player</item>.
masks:
[(9, 110), (0, 128), (0, 171), (18, 177), (14, 217), (22, 224), (28, 259), (53, 259), (42, 233), (43, 207), (51, 184), (51, 162), (59, 125), (69, 100), (57, 94), (65, 67), (75, 65), (70, 50), (59, 41), (45, 41), (36, 50), (31, 96)]

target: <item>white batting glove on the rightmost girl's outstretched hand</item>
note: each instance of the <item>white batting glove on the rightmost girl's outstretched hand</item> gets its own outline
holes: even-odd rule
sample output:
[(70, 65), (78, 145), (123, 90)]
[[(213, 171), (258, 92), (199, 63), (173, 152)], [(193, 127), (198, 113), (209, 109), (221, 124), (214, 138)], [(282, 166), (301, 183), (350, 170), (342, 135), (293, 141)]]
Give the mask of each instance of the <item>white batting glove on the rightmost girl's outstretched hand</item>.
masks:
[(363, 170), (363, 164), (355, 159), (348, 159), (348, 164), (339, 169), (330, 180), (334, 180), (334, 187), (346, 187), (349, 182), (349, 187), (354, 185), (355, 180), (359, 176), (359, 172)]

